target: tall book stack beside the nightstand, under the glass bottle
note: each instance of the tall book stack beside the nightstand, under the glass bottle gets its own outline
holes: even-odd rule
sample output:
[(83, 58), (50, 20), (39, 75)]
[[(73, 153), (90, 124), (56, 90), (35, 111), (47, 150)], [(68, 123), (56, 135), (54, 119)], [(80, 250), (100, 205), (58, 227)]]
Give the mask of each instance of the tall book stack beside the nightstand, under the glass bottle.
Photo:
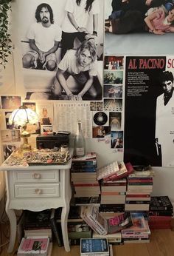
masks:
[(73, 158), (71, 175), (74, 186), (74, 204), (99, 203), (100, 184), (97, 181), (96, 153), (90, 152), (82, 158)]

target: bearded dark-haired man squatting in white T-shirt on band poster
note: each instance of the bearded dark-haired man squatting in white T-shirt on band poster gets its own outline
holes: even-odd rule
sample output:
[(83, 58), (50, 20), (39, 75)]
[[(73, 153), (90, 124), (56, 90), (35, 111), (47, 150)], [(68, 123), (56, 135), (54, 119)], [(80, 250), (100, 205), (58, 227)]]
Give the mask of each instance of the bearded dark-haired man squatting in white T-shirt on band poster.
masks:
[(36, 22), (27, 32), (30, 50), (22, 58), (23, 67), (53, 71), (57, 67), (55, 52), (61, 40), (61, 29), (54, 24), (52, 7), (49, 4), (39, 4), (35, 18)]

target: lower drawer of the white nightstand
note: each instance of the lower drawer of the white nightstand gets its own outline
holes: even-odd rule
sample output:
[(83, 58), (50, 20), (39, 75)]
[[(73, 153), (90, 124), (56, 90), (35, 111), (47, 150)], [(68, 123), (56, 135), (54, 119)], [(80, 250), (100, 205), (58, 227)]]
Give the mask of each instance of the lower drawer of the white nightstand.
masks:
[(60, 197), (60, 184), (15, 184), (15, 198)]

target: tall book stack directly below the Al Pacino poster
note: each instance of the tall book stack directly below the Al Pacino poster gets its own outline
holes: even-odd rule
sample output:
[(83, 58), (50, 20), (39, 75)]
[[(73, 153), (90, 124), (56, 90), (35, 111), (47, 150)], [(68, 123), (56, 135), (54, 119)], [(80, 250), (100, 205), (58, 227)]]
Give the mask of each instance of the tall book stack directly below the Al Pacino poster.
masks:
[(150, 195), (153, 191), (153, 176), (152, 169), (136, 171), (128, 175), (128, 186), (125, 200), (125, 211), (143, 212), (147, 218)]

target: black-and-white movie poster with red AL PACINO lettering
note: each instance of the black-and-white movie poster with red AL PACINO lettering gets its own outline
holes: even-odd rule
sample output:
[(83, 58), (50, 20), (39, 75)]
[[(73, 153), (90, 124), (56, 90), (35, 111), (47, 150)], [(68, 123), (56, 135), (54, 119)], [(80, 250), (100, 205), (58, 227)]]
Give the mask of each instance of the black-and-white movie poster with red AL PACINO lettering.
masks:
[(124, 161), (174, 166), (174, 56), (126, 58)]

